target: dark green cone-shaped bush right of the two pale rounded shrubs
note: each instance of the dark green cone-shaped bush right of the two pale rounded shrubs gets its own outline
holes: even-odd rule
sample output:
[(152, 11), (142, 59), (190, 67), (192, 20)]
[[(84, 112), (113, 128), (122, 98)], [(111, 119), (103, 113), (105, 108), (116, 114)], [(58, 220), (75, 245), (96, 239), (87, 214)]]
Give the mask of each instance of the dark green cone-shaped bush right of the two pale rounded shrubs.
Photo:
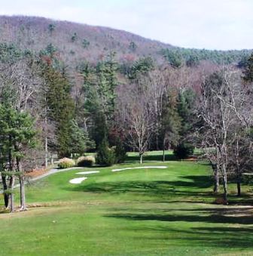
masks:
[(115, 163), (115, 153), (108, 146), (107, 140), (102, 140), (96, 153), (96, 162), (99, 165), (111, 166)]

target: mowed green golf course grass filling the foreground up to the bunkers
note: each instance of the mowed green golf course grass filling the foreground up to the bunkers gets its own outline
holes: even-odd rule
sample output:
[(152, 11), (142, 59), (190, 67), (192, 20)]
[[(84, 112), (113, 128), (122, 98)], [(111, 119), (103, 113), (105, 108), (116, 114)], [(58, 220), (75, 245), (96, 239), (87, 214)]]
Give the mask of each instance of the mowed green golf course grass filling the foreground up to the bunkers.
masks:
[[(87, 175), (82, 184), (69, 184), (80, 177), (78, 169), (30, 184), (27, 201), (37, 207), (0, 214), (0, 254), (253, 254), (253, 209), (213, 204), (208, 165), (147, 160), (144, 165), (168, 168), (90, 168), (100, 173)], [(113, 168), (131, 166), (139, 165)], [(241, 201), (233, 196), (232, 201), (251, 203), (248, 195)]]

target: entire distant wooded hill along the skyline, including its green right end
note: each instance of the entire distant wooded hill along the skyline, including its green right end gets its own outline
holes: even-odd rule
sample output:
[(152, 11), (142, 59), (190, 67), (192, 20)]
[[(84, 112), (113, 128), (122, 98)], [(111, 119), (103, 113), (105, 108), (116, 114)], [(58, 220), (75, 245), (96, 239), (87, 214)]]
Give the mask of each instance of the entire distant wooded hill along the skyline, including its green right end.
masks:
[(96, 63), (109, 51), (117, 53), (116, 58), (120, 63), (147, 56), (154, 58), (157, 63), (175, 58), (176, 61), (179, 58), (185, 62), (190, 59), (191, 63), (195, 57), (216, 63), (236, 63), (251, 52), (176, 48), (123, 30), (25, 16), (0, 16), (1, 42), (35, 52), (50, 45), (69, 66), (76, 66), (84, 60)]

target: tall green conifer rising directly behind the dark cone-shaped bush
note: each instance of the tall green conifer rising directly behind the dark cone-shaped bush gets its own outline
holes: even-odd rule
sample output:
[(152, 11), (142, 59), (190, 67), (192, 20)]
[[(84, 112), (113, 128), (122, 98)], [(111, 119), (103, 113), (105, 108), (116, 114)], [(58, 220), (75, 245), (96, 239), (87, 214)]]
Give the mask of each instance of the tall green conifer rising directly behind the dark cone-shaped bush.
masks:
[(106, 60), (100, 61), (96, 69), (89, 63), (81, 66), (84, 78), (84, 107), (81, 112), (88, 122), (88, 131), (96, 142), (96, 147), (105, 137), (114, 123), (115, 89), (117, 81), (117, 62), (114, 53), (108, 54)]

